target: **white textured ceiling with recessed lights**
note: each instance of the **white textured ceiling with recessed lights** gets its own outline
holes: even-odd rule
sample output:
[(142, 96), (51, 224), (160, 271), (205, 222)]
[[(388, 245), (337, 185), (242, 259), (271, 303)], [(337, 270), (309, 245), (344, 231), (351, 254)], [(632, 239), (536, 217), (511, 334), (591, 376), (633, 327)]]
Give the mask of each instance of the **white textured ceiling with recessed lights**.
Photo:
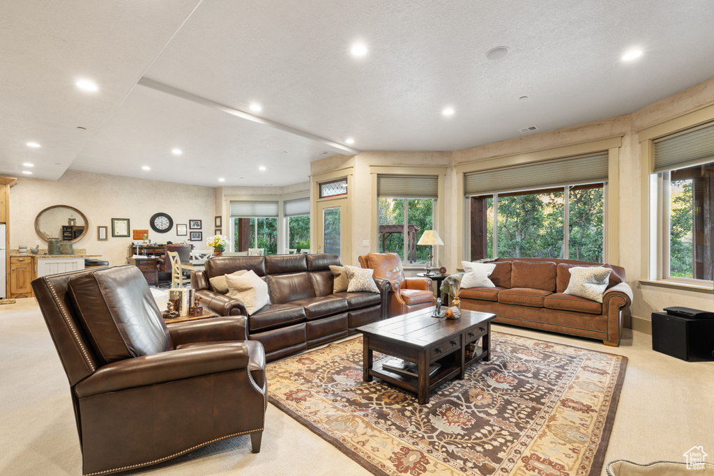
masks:
[[(346, 147), (459, 150), (630, 113), (714, 76), (710, 0), (196, 4), (13, 6), (23, 18), (0, 20), (0, 172), (17, 173), (36, 140), (51, 158), (34, 176), (146, 165), (178, 183), (282, 186)], [(366, 56), (350, 54), (356, 41)], [(510, 54), (486, 59), (496, 46)], [(621, 61), (633, 47), (643, 56)], [(101, 94), (66, 91), (77, 74)], [(166, 90), (131, 89), (142, 75)]]

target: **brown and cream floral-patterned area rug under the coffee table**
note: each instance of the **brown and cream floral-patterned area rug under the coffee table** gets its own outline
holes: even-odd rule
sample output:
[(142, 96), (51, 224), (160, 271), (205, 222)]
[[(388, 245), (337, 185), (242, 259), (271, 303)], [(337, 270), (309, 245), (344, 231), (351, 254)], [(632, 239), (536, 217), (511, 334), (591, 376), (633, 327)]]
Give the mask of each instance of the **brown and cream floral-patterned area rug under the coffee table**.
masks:
[(269, 364), (268, 395), (375, 475), (600, 475), (627, 358), (503, 333), (491, 342), (491, 362), (428, 405), (363, 382), (361, 338)]

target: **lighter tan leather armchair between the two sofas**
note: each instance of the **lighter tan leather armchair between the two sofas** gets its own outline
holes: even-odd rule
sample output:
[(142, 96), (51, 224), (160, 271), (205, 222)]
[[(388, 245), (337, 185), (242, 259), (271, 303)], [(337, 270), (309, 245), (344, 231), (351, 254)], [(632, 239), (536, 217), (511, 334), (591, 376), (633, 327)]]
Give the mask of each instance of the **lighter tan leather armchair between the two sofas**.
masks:
[(372, 268), (374, 278), (391, 283), (388, 295), (389, 317), (411, 313), (436, 304), (431, 279), (405, 278), (401, 258), (396, 253), (367, 253), (359, 257), (362, 268)]

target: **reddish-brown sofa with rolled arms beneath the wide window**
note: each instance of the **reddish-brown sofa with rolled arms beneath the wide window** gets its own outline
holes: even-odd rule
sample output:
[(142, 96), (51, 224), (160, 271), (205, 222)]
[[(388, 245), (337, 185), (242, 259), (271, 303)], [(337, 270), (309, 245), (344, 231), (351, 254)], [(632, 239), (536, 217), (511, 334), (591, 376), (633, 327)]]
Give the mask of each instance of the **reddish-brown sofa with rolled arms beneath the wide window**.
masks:
[[(495, 322), (550, 330), (619, 345), (623, 310), (632, 304), (625, 269), (612, 268), (603, 303), (565, 294), (573, 266), (588, 261), (545, 258), (499, 258), (489, 277), (496, 288), (462, 288), (461, 308), (496, 314)], [(447, 278), (450, 279), (450, 278)]]

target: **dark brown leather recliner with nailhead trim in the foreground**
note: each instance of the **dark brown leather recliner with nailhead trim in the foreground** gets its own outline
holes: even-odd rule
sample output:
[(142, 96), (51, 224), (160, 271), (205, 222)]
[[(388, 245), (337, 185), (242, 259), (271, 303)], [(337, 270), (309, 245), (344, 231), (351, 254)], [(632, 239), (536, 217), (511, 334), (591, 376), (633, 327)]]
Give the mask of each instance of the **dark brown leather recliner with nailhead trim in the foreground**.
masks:
[(237, 435), (260, 451), (266, 359), (243, 316), (167, 326), (136, 266), (43, 276), (32, 288), (69, 380), (84, 474)]

